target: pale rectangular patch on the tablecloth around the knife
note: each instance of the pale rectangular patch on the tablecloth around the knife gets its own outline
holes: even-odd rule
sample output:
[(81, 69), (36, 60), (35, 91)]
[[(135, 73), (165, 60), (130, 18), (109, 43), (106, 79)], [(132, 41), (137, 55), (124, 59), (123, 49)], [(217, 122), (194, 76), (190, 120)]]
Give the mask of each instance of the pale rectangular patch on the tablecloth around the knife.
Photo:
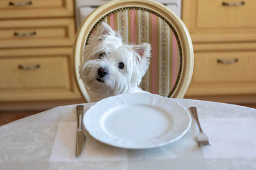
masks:
[(50, 162), (126, 160), (127, 151), (104, 145), (86, 134), (83, 151), (76, 158), (77, 122), (61, 122), (52, 148)]

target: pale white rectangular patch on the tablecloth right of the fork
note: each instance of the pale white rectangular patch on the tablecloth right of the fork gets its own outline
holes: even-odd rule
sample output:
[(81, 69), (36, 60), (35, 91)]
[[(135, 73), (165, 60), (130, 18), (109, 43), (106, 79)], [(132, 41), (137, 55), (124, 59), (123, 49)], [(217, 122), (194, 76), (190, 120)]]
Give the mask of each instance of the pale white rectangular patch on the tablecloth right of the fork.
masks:
[(205, 158), (256, 157), (256, 118), (201, 118), (200, 122), (211, 143), (202, 147)]

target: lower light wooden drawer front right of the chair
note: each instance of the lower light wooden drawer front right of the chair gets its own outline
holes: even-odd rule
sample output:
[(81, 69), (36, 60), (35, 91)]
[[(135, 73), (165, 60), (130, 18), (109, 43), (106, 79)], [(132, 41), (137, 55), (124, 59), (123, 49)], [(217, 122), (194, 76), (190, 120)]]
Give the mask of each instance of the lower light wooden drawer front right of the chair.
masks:
[(255, 63), (255, 51), (196, 52), (186, 96), (255, 95)]

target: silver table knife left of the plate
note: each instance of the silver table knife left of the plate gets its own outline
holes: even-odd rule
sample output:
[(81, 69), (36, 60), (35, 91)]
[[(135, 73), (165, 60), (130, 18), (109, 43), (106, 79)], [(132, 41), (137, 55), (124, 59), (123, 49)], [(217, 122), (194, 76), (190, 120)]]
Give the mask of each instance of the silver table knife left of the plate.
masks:
[(82, 131), (83, 105), (77, 105), (77, 130), (76, 130), (76, 157), (80, 155), (83, 150), (85, 136)]

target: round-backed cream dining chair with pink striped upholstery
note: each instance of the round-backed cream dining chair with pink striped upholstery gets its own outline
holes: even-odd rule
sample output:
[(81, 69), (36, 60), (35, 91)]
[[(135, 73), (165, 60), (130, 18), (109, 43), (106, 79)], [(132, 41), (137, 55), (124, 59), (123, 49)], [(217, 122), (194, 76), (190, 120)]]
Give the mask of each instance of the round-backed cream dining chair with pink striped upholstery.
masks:
[(99, 6), (80, 25), (73, 48), (77, 87), (86, 102), (90, 96), (79, 78), (84, 46), (97, 25), (106, 22), (124, 42), (150, 43), (152, 57), (140, 83), (143, 90), (160, 96), (183, 98), (193, 73), (193, 46), (188, 29), (172, 11), (151, 0), (114, 0)]

